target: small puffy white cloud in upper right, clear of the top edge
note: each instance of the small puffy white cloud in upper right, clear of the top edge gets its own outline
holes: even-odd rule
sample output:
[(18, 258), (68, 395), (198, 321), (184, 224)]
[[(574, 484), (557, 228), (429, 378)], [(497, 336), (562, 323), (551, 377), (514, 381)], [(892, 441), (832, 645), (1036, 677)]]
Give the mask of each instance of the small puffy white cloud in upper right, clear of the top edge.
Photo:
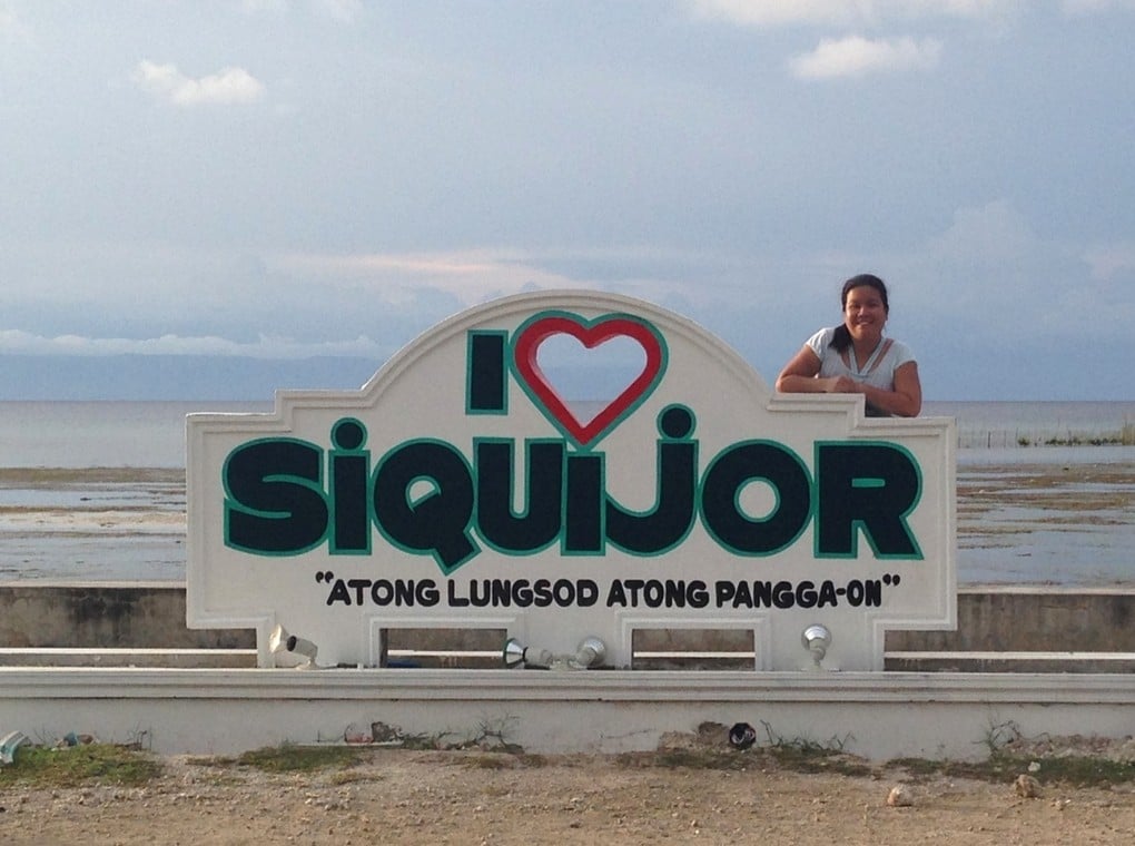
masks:
[(934, 39), (873, 41), (859, 35), (824, 39), (809, 53), (793, 57), (789, 67), (805, 79), (863, 76), (885, 70), (930, 70), (938, 65), (942, 44)]

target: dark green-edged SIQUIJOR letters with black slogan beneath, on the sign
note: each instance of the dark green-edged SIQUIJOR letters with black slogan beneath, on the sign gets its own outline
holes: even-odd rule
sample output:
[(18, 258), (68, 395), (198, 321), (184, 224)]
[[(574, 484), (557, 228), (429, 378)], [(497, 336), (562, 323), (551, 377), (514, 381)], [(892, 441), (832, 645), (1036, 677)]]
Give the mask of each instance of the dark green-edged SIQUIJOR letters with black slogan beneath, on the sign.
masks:
[[(695, 426), (684, 405), (659, 412), (655, 501), (645, 511), (628, 509), (606, 492), (605, 453), (572, 451), (564, 439), (474, 438), (469, 459), (453, 444), (422, 438), (395, 445), (372, 466), (367, 428), (354, 418), (333, 425), (329, 454), (299, 438), (259, 438), (237, 446), (225, 461), (225, 543), (254, 555), (299, 555), (323, 544), (331, 555), (369, 555), (377, 530), (395, 548), (432, 556), (449, 575), (484, 546), (521, 556), (558, 544), (564, 555), (602, 556), (611, 544), (638, 556), (661, 555), (681, 545), (698, 522), (733, 554), (771, 556), (796, 543), (815, 520), (817, 558), (855, 558), (861, 534), (878, 558), (922, 559), (907, 521), (922, 479), (902, 446), (817, 443), (813, 475), (783, 444), (743, 441), (713, 455), (701, 471)], [(518, 450), (523, 451), (523, 479), (516, 478)], [(767, 514), (749, 514), (741, 506), (743, 488), (751, 484), (772, 491), (775, 505)], [(520, 510), (514, 508), (518, 486)], [(451, 593), (451, 604), (563, 601), (555, 588), (560, 583), (537, 588), (543, 580), (521, 581)], [(617, 592), (613, 587), (607, 597), (611, 606), (681, 608), (681, 602), (698, 608), (703, 592), (709, 601), (709, 588), (700, 583), (616, 584)], [(373, 584), (344, 583), (328, 603), (359, 602), (360, 592), (372, 589)], [(724, 597), (723, 589), (714, 587), (720, 606), (782, 608), (788, 601), (777, 598), (775, 584), (734, 586)], [(823, 586), (814, 589), (815, 597), (797, 586), (791, 602), (810, 608), (808, 602), (823, 606), (831, 601)], [(869, 590), (861, 593), (866, 603)], [(578, 602), (577, 595), (569, 604)]]

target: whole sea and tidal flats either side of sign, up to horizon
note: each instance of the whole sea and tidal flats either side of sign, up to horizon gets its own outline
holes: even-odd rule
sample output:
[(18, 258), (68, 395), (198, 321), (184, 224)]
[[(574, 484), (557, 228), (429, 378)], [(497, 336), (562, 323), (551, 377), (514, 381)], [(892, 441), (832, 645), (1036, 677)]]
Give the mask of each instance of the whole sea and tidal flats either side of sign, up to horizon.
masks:
[[(1031, 414), (1018, 405), (930, 409), (967, 414), (958, 416), (959, 583), (1135, 583), (1135, 446), (1121, 442), (1135, 403)], [(188, 410), (0, 403), (0, 581), (183, 579)]]

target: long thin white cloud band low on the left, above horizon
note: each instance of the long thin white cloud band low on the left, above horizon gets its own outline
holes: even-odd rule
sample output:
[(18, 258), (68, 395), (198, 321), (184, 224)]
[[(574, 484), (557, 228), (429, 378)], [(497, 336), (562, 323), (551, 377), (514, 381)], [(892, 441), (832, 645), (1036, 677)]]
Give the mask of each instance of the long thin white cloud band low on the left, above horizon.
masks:
[(384, 358), (389, 350), (360, 335), (348, 341), (297, 342), (261, 335), (243, 343), (216, 335), (162, 335), (153, 338), (45, 337), (22, 329), (0, 329), (0, 352), (24, 355), (238, 355), (253, 359), (305, 359), (317, 355)]

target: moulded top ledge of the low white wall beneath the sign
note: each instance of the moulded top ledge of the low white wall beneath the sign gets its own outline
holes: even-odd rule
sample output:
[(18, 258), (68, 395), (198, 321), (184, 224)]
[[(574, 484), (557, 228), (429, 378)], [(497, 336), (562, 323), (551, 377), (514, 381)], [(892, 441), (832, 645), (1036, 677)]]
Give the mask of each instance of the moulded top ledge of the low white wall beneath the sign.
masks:
[(1135, 676), (1084, 673), (645, 672), (590, 670), (146, 669), (0, 668), (3, 696), (41, 692), (64, 698), (353, 698), (481, 701), (505, 694), (530, 702), (680, 701), (690, 694), (728, 702), (1121, 703), (1135, 709)]

